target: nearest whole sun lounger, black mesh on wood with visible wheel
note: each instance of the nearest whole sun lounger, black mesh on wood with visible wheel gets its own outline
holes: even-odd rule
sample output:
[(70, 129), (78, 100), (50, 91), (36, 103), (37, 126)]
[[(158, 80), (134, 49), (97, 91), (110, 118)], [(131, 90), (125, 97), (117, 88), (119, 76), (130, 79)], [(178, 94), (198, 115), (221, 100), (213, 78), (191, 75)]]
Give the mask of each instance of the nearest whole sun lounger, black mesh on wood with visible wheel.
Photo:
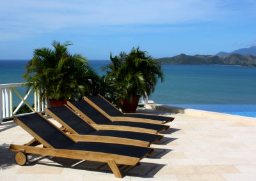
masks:
[[(13, 119), (35, 138), (26, 145), (10, 145), (10, 150), (17, 152), (15, 161), (20, 165), (26, 164), (27, 154), (65, 157), (108, 163), (115, 177), (122, 177), (116, 164), (135, 166), (143, 157), (154, 151), (154, 148), (150, 147), (93, 141), (77, 142), (38, 113), (14, 117)], [(39, 144), (44, 145), (44, 147), (35, 147)]]

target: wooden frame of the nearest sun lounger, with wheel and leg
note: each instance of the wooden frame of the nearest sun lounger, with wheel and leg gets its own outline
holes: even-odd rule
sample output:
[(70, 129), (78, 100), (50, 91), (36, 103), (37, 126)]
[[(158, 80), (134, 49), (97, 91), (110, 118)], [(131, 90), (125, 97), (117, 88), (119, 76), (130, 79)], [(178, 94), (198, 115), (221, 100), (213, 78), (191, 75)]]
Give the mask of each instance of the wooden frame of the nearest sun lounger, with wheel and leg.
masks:
[[(43, 118), (45, 119), (45, 117)], [(70, 158), (70, 159), (97, 161), (102, 163), (108, 163), (109, 168), (111, 168), (115, 177), (122, 178), (122, 173), (120, 172), (116, 164), (125, 164), (129, 166), (135, 166), (136, 164), (138, 164), (140, 159), (143, 158), (143, 157), (136, 158), (136, 157), (129, 157), (129, 156), (120, 156), (116, 154), (108, 154), (108, 153), (102, 153), (102, 152), (90, 152), (90, 151), (84, 151), (84, 150), (56, 149), (56, 148), (53, 148), (49, 143), (47, 143), (47, 141), (43, 140), (38, 134), (36, 134), (28, 126), (26, 126), (26, 124), (23, 124), (19, 120), (19, 118), (13, 117), (13, 120), (17, 124), (19, 124), (23, 129), (28, 131), (28, 133), (31, 134), (31, 136), (34, 137), (33, 140), (29, 141), (29, 143), (25, 145), (15, 145), (15, 144), (10, 145), (10, 150), (14, 152), (18, 152), (17, 155), (15, 156), (15, 160), (20, 165), (24, 164), (24, 162), (26, 164), (26, 159), (27, 159), (26, 154), (38, 154), (43, 156), (54, 156), (54, 157), (64, 157), (64, 158)], [(49, 122), (49, 120), (47, 119), (45, 120)], [(54, 124), (52, 124), (52, 126), (56, 127)], [(58, 129), (58, 127), (56, 128)], [(65, 135), (67, 136), (67, 134)], [(74, 140), (72, 137), (70, 138), (71, 140)], [(76, 142), (76, 140), (74, 141)], [(35, 145), (40, 145), (40, 144), (44, 145), (44, 147), (35, 147)], [(147, 155), (148, 154), (146, 154), (145, 156)]]

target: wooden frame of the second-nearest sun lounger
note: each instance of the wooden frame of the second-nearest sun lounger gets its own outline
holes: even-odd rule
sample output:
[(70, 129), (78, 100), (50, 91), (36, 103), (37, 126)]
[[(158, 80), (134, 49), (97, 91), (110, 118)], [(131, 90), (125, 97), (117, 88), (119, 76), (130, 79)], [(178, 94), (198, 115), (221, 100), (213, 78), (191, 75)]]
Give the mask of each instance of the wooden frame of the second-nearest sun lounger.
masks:
[[(64, 105), (64, 106), (67, 107), (68, 110), (74, 112), (67, 105)], [(51, 112), (51, 110), (45, 108), (45, 113), (51, 115), (51, 117), (53, 119), (55, 119), (63, 127), (65, 127), (65, 129), (68, 131), (68, 133), (71, 133), (71, 134), (68, 134), (68, 136), (70, 138), (72, 138), (73, 140), (76, 140), (76, 141), (88, 141), (88, 140), (92, 141), (93, 140), (95, 142), (101, 142), (101, 143), (119, 143), (119, 144), (123, 144), (123, 145), (136, 145), (136, 146), (144, 146), (144, 147), (147, 147), (147, 146), (150, 145), (150, 143), (148, 141), (133, 140), (133, 139), (128, 139), (128, 138), (116, 138), (116, 137), (113, 137), (113, 136), (99, 136), (99, 135), (83, 135), (83, 134), (79, 134), (74, 129), (72, 129), (70, 126), (68, 126), (68, 124), (66, 124), (58, 116), (56, 116), (53, 112)], [(77, 116), (79, 116), (79, 115), (77, 115)], [(88, 122), (86, 122), (83, 118), (81, 118), (81, 119), (84, 121), (85, 124), (88, 124)], [(95, 125), (90, 124), (90, 126), (92, 126), (94, 129), (96, 129)], [(96, 129), (96, 130), (99, 130), (99, 129)], [(113, 129), (111, 129), (111, 130), (113, 130)], [(163, 137), (159, 138), (156, 141), (160, 141), (162, 138)], [(155, 143), (156, 141), (154, 141), (152, 143)]]

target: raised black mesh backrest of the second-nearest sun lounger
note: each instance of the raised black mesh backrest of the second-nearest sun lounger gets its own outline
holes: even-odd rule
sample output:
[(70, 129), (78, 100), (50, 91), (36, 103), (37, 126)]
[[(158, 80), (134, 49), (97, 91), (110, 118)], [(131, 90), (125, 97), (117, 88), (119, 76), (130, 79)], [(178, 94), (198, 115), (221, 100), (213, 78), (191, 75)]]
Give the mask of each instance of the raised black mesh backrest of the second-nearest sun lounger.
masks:
[[(67, 108), (67, 106), (60, 106), (47, 109), (50, 112), (52, 112), (56, 117), (58, 117), (54, 117), (56, 120), (61, 119), (63, 122), (65, 122), (65, 124), (74, 129), (74, 131), (76, 131), (77, 134), (90, 134), (96, 131), (92, 126), (90, 126), (87, 122), (81, 119), (81, 117), (79, 117), (76, 113)], [(49, 114), (51, 115), (51, 113)], [(51, 115), (51, 117), (53, 116)]]

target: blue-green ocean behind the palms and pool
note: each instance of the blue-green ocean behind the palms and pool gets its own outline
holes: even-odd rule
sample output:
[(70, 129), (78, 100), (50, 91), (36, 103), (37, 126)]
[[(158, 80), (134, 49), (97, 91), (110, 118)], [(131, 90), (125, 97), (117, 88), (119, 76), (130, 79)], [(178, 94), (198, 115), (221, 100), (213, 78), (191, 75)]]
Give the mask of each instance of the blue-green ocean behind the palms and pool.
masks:
[[(27, 62), (0, 61), (0, 84), (25, 82), (22, 75)], [(89, 64), (103, 75), (102, 66), (107, 61), (89, 61)], [(255, 112), (256, 117), (256, 68), (218, 65), (163, 65), (162, 68), (164, 82), (157, 83), (150, 96), (155, 103), (184, 107), (221, 105), (224, 107), (221, 112), (225, 112), (225, 105), (227, 108), (240, 105), (240, 110), (241, 105), (246, 105), (244, 110), (253, 108), (250, 112)]]

